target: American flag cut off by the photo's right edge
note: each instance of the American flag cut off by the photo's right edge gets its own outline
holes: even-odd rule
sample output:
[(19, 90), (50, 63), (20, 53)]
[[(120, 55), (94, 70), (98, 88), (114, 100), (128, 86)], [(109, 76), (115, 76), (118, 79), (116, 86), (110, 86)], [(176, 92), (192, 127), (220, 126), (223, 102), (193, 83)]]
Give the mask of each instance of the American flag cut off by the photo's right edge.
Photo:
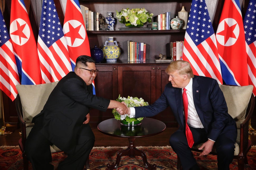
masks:
[(256, 2), (250, 0), (244, 17), (244, 33), (248, 62), (249, 84), (253, 85), (253, 94), (256, 95)]

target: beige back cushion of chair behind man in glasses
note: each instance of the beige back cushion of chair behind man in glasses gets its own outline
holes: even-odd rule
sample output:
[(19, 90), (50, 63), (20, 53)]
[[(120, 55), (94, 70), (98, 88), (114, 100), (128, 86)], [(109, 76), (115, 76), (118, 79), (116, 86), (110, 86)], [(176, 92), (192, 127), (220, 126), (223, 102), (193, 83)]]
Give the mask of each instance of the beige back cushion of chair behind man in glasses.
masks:
[(31, 123), (33, 117), (41, 112), (57, 83), (58, 81), (39, 85), (16, 85), (21, 99), (23, 119), (26, 122), (27, 136), (34, 126), (34, 123)]

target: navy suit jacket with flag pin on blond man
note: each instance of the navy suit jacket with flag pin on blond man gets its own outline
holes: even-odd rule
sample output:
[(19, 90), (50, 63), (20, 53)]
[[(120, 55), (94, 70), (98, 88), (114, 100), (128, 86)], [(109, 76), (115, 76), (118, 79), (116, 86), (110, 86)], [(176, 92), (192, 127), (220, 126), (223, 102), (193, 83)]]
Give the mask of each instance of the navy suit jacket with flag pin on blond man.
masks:
[[(192, 80), (195, 108), (208, 138), (216, 141), (222, 131), (230, 131), (235, 143), (236, 123), (228, 114), (227, 104), (217, 81), (204, 76), (195, 76)], [(165, 86), (162, 95), (152, 105), (135, 107), (135, 117), (154, 116), (168, 106), (176, 117), (179, 128), (184, 130), (182, 89), (173, 87), (171, 83)]]

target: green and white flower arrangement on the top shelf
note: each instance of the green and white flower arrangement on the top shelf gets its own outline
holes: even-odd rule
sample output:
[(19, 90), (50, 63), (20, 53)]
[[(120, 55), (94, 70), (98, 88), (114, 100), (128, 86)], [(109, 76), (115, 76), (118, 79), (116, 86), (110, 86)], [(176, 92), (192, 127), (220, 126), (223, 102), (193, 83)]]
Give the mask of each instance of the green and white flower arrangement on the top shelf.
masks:
[(116, 17), (119, 22), (126, 26), (143, 26), (146, 22), (151, 22), (153, 13), (149, 13), (145, 8), (122, 9), (120, 12), (116, 11)]

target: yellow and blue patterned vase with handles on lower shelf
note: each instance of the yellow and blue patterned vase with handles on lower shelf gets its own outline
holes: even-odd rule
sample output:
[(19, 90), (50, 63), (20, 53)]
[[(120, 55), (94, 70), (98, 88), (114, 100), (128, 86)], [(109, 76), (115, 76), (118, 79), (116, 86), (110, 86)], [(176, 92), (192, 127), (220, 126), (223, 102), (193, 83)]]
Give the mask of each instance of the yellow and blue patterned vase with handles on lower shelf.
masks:
[(113, 40), (113, 37), (108, 37), (108, 41), (105, 42), (102, 50), (107, 62), (117, 61), (121, 54), (121, 50), (118, 47), (117, 42)]

